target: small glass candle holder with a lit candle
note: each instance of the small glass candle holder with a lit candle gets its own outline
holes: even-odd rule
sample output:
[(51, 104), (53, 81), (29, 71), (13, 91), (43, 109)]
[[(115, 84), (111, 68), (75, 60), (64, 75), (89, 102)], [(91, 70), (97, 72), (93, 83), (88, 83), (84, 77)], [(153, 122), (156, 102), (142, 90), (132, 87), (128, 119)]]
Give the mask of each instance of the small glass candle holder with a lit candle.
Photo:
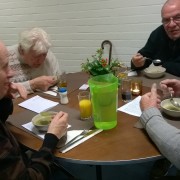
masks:
[(142, 80), (134, 79), (131, 81), (132, 95), (138, 96), (142, 94)]

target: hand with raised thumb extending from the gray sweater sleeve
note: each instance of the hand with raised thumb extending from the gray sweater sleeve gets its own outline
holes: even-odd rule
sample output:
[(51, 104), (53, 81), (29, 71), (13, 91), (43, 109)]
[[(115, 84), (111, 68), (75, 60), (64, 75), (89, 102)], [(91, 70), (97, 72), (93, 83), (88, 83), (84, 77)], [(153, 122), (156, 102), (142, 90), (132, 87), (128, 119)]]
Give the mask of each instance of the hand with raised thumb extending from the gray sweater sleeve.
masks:
[(157, 94), (156, 84), (153, 84), (151, 87), (151, 92), (146, 93), (141, 97), (140, 107), (142, 111), (149, 109), (151, 107), (159, 108), (160, 102), (161, 100), (159, 95)]

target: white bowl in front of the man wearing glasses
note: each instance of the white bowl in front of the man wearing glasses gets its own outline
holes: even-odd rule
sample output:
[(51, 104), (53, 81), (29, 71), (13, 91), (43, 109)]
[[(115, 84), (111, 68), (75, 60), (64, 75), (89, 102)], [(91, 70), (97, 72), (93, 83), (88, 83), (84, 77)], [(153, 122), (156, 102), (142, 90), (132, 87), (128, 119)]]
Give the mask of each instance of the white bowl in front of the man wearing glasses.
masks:
[(150, 78), (160, 78), (165, 74), (165, 72), (166, 68), (162, 66), (149, 66), (144, 69), (145, 75)]

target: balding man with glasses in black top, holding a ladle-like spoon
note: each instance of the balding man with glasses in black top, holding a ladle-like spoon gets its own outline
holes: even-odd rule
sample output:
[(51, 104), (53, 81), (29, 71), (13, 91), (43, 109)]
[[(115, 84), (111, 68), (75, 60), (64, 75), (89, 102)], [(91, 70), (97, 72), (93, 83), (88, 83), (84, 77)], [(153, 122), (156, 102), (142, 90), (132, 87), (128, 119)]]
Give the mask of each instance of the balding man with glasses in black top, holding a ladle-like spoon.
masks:
[(161, 10), (162, 25), (155, 29), (145, 46), (132, 57), (131, 69), (142, 70), (155, 59), (166, 71), (180, 76), (180, 1), (168, 0)]

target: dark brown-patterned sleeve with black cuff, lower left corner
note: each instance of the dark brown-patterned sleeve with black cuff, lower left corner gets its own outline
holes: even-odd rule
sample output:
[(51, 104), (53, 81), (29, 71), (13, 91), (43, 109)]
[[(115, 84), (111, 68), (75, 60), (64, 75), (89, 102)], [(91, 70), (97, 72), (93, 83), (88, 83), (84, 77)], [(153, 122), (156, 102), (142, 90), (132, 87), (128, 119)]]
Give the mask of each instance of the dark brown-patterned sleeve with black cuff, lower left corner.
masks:
[[(26, 158), (13, 135), (0, 121), (0, 170), (2, 179), (49, 179), (53, 165), (53, 150), (58, 138), (53, 134), (46, 134), (42, 147), (38, 152)], [(13, 173), (10, 173), (13, 172)]]

